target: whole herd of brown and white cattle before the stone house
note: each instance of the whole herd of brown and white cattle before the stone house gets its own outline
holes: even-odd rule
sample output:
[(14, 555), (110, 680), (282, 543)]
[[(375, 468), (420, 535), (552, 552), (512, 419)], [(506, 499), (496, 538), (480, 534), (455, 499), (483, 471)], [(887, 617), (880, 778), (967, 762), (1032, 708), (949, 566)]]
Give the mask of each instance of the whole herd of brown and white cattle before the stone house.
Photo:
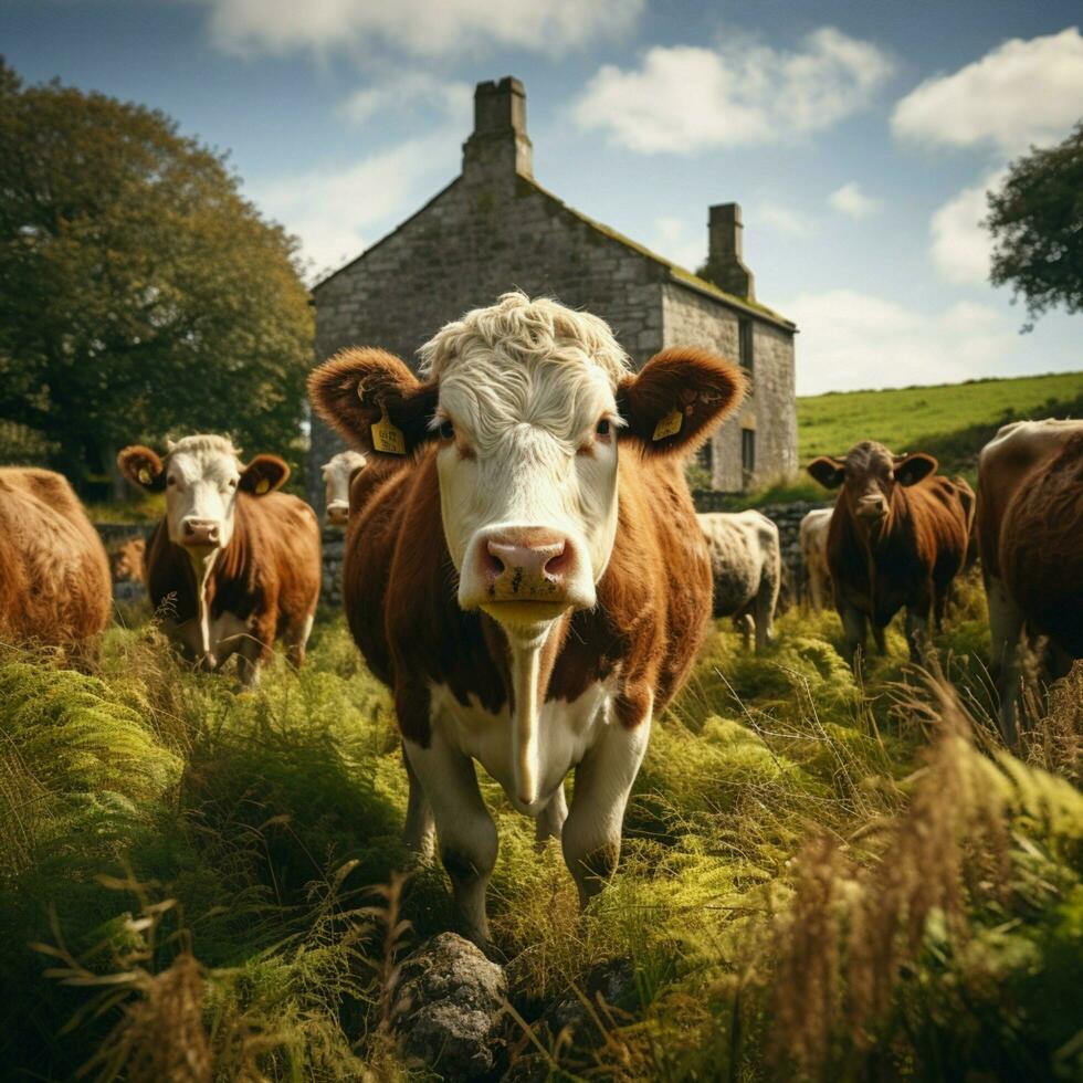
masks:
[[(671, 348), (638, 374), (609, 327), (519, 293), (467, 313), (421, 350), (422, 379), (348, 349), (309, 379), (316, 412), (355, 450), (324, 467), (327, 519), (346, 529), (350, 632), (395, 697), (410, 782), (407, 840), (433, 829), (460, 916), (487, 940), (496, 830), (474, 763), (560, 840), (586, 902), (616, 866), (653, 716), (688, 674), (708, 618), (772, 638), (779, 535), (757, 512), (696, 517), (684, 464), (742, 401), (721, 358)], [(618, 456), (618, 445), (621, 454)], [(165, 492), (141, 570), (186, 658), (238, 655), (241, 680), (282, 639), (302, 664), (322, 575), (320, 532), (280, 492), (275, 455), (243, 464), (222, 437), (120, 452)], [(863, 442), (811, 475), (840, 490), (801, 524), (809, 598), (829, 592), (845, 654), (903, 608), (912, 656), (980, 553), (1006, 736), (1020, 645), (1049, 673), (1083, 656), (1083, 422), (1020, 422), (981, 453), (977, 497), (929, 455)], [(93, 649), (111, 613), (102, 543), (67, 482), (0, 471), (0, 639)], [(566, 803), (564, 781), (576, 771)]]

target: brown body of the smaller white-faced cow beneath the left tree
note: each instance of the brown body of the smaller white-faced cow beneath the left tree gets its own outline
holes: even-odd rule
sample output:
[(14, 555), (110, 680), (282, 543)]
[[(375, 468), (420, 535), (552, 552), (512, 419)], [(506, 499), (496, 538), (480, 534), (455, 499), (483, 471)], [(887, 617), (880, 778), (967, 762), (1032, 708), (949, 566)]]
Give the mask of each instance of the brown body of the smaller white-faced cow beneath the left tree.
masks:
[[(291, 660), (304, 661), (307, 627), (319, 596), (319, 528), (296, 496), (240, 493), (229, 545), (218, 555), (207, 585), (212, 623), (228, 625), (228, 645), (211, 660), (221, 665), (240, 653), (246, 663), (271, 658), (281, 635)], [(169, 540), (166, 521), (147, 545), (147, 592), (186, 658), (199, 658), (199, 596), (192, 564)]]

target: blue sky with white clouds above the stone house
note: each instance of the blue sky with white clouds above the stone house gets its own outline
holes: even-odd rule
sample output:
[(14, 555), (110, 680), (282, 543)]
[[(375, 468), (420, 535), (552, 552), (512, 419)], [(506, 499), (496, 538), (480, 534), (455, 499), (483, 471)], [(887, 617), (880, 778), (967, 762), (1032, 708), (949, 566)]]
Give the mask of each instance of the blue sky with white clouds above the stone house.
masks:
[(0, 0), (29, 82), (159, 107), (230, 149), (313, 272), (459, 171), (479, 80), (526, 84), (538, 180), (686, 265), (744, 208), (799, 391), (1083, 369), (1083, 317), (1020, 335), (984, 190), (1083, 116), (1079, 3)]

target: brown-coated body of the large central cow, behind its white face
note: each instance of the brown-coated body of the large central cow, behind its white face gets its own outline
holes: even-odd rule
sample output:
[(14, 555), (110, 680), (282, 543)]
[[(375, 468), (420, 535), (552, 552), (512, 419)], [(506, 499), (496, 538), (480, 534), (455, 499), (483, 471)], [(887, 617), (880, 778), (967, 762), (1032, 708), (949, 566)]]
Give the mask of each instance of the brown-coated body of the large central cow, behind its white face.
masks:
[[(368, 491), (358, 493), (360, 483)], [(429, 739), (430, 684), (497, 712), (509, 696), (506, 648), (494, 622), (455, 600), (434, 454), (350, 494), (344, 602), (369, 669), (395, 692), (403, 735)], [(422, 540), (423, 539), (423, 540)], [(619, 667), (618, 715), (639, 724), (687, 676), (711, 616), (711, 565), (695, 509), (670, 460), (620, 464), (617, 540), (598, 606), (566, 613), (551, 650), (546, 700), (572, 701)]]

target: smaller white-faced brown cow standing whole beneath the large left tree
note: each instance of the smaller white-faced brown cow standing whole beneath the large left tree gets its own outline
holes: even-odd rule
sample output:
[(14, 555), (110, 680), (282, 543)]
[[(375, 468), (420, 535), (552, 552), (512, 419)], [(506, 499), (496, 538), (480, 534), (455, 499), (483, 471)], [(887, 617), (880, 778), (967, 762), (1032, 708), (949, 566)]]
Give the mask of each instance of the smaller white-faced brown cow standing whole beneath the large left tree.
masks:
[(315, 513), (276, 492), (290, 467), (277, 455), (243, 465), (224, 437), (167, 446), (164, 460), (140, 445), (117, 455), (128, 481), (166, 493), (147, 544), (147, 591), (166, 634), (204, 670), (236, 654), (245, 685), (257, 683), (278, 635), (299, 666), (322, 564)]

